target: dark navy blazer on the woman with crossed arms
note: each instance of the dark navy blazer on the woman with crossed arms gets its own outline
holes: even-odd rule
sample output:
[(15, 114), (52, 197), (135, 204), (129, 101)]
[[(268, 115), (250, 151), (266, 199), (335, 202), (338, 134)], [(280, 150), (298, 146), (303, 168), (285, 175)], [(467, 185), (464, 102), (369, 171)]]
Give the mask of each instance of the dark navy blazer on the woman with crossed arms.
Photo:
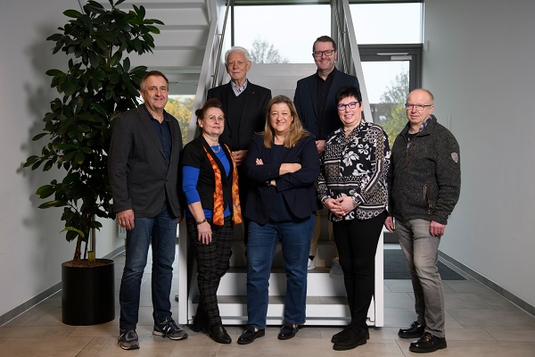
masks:
[[(259, 224), (266, 223), (273, 208), (272, 196), (275, 189), (277, 192), (282, 192), (284, 201), (294, 216), (309, 217), (319, 208), (314, 185), (319, 175), (319, 157), (314, 137), (310, 135), (303, 137), (292, 148), (283, 147), (277, 161), (274, 161), (272, 154), (272, 149), (264, 146), (264, 137), (255, 134), (243, 163), (245, 179), (251, 181), (247, 195), (247, 210), (243, 215)], [(257, 165), (257, 158), (262, 159), (264, 164)], [(301, 169), (280, 176), (279, 170), (283, 162), (299, 162)], [(276, 180), (276, 187), (268, 186), (267, 181), (271, 179)]]

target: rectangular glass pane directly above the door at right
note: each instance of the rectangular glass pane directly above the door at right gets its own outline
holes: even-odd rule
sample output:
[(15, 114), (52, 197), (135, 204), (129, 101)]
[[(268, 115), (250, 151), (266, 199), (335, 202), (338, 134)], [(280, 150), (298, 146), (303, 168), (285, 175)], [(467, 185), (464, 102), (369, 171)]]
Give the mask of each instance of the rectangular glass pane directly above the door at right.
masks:
[(350, 4), (358, 45), (422, 43), (422, 4)]

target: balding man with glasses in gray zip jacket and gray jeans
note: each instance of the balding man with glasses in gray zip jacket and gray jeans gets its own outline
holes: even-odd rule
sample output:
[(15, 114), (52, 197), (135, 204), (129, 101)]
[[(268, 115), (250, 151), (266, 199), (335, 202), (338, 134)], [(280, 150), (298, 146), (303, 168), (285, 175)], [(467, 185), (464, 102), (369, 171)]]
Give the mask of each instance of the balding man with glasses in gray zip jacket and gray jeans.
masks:
[(418, 338), (410, 344), (411, 352), (430, 353), (447, 347), (437, 262), (440, 238), (461, 188), (459, 145), (432, 115), (431, 92), (412, 91), (405, 107), (408, 123), (391, 151), (390, 214), (384, 225), (399, 238), (416, 300), (417, 320), (398, 335)]

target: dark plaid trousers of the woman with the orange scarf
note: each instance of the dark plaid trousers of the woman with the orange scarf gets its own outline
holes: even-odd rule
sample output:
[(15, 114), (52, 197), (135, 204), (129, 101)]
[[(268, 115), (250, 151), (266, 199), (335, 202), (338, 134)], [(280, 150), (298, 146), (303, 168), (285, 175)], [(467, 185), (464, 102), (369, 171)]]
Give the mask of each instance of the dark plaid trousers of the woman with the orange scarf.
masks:
[(225, 275), (230, 259), (233, 238), (233, 223), (225, 218), (223, 226), (216, 226), (208, 220), (212, 229), (212, 241), (203, 245), (198, 239), (197, 224), (193, 218), (186, 218), (187, 237), (193, 246), (197, 261), (197, 284), (200, 301), (197, 313), (202, 313), (209, 326), (221, 324), (218, 307), (219, 281)]

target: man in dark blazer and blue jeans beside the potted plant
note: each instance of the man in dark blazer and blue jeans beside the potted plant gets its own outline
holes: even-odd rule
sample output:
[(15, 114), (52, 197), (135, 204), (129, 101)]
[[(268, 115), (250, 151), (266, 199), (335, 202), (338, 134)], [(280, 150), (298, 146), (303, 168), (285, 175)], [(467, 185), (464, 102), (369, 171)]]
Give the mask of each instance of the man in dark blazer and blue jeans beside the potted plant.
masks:
[(108, 170), (113, 210), (127, 229), (126, 261), (120, 282), (119, 341), (139, 348), (136, 325), (141, 279), (152, 245), (152, 334), (181, 340), (187, 334), (171, 317), (169, 294), (177, 243), (177, 223), (184, 207), (178, 199), (178, 162), (182, 135), (164, 111), (169, 80), (148, 72), (140, 83), (144, 104), (119, 115), (111, 137)]

